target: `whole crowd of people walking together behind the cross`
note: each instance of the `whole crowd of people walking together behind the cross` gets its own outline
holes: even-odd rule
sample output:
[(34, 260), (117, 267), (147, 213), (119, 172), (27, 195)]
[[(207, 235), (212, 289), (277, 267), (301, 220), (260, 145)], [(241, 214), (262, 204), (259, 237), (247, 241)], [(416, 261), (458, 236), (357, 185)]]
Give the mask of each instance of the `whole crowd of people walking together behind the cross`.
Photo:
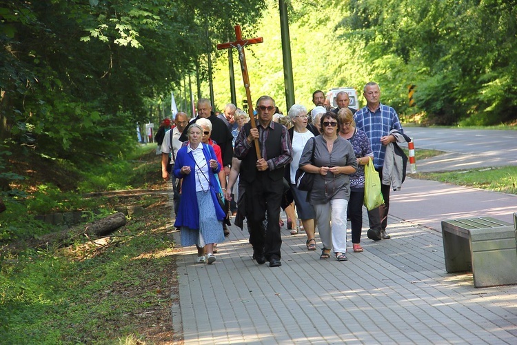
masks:
[[(380, 102), (377, 83), (367, 83), (363, 97), (366, 106), (355, 110), (347, 92), (338, 92), (337, 107), (330, 108), (316, 90), (315, 108), (294, 104), (283, 115), (265, 95), (256, 101), (253, 121), (231, 103), (216, 115), (208, 99), (199, 99), (197, 117), (190, 121), (178, 112), (172, 128), (162, 133), (161, 171), (165, 181), (172, 179), (181, 246), (196, 245), (196, 262), (213, 264), (234, 215), (241, 229), (247, 223), (256, 263), (281, 266), (283, 209), (290, 233), (305, 231), (307, 250), (317, 249), (317, 229), (320, 259), (346, 261), (347, 220), (354, 253), (363, 251), (369, 164), (381, 180), (384, 204), (367, 210), (367, 237), (389, 239), (389, 193), (400, 189), (405, 177), (396, 143), (409, 138), (394, 108)], [(312, 174), (310, 190), (298, 185), (301, 172)]]

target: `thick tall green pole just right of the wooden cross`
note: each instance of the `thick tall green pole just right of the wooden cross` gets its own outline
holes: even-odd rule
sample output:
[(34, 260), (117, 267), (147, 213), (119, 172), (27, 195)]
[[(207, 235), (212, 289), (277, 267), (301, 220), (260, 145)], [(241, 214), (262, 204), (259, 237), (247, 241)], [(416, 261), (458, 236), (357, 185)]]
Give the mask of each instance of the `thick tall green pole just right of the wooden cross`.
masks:
[(282, 56), (283, 56), (283, 77), (285, 88), (285, 105), (289, 110), (294, 104), (294, 82), (292, 75), (291, 43), (289, 37), (289, 19), (287, 17), (287, 5), (284, 0), (278, 0), (280, 8), (280, 30), (282, 37)]

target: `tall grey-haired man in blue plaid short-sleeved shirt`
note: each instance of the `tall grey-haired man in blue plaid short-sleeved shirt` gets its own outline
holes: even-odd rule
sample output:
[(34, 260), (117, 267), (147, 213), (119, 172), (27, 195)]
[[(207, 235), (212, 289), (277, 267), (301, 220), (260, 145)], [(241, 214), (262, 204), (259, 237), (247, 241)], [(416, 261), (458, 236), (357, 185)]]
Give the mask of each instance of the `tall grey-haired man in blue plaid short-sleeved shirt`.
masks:
[[(385, 106), (379, 101), (381, 88), (379, 88), (377, 83), (367, 83), (363, 89), (363, 96), (367, 104), (364, 108), (356, 112), (354, 119), (356, 121), (356, 127), (366, 132), (369, 138), (370, 145), (374, 151), (375, 170), (378, 171), (382, 181), (386, 145), (396, 141), (396, 138), (388, 133), (390, 130), (403, 132), (403, 128), (394, 108)], [(390, 238), (386, 233), (390, 189), (389, 185), (381, 184), (384, 205), (368, 211), (370, 230), (368, 230), (367, 234), (370, 239), (378, 241), (379, 239)]]

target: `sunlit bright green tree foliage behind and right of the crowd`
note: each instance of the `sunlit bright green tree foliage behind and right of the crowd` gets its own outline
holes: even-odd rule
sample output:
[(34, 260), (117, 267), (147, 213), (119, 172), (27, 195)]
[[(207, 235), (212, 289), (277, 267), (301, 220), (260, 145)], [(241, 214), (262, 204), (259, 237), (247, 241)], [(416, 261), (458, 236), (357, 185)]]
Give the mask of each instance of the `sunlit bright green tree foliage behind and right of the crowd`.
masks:
[[(272, 95), (285, 110), (278, 8), (272, 0), (268, 5), (257, 32), (264, 44), (247, 48), (252, 97)], [(349, 86), (361, 95), (365, 83), (376, 81), (381, 102), (403, 118), (418, 114), (428, 124), (463, 126), (517, 119), (515, 1), (323, 0), (290, 6), (296, 103), (312, 108), (317, 89)], [(230, 95), (222, 60), (216, 61), (216, 104)], [(236, 69), (239, 106), (240, 77)], [(416, 85), (411, 108), (410, 84)]]

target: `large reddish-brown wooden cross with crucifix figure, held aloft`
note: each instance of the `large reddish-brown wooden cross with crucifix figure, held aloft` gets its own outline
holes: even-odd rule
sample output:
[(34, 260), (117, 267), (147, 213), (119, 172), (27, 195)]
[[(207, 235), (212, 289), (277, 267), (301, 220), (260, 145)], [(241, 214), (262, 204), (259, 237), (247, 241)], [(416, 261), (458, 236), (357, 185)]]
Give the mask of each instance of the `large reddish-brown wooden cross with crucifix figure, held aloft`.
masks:
[[(239, 60), (241, 61), (241, 70), (243, 72), (243, 81), (244, 88), (246, 90), (246, 99), (247, 99), (247, 113), (250, 115), (250, 121), (252, 124), (252, 128), (256, 128), (255, 117), (253, 116), (253, 103), (252, 103), (252, 95), (250, 94), (250, 77), (247, 75), (247, 66), (246, 66), (246, 57), (244, 55), (244, 47), (249, 44), (262, 43), (262, 37), (257, 37), (255, 39), (243, 39), (241, 26), (236, 25), (235, 28), (235, 37), (236, 41), (221, 43), (217, 45), (217, 50), (221, 49), (229, 49), (229, 48), (237, 48), (239, 51)], [(259, 148), (259, 140), (255, 139), (255, 150), (256, 150), (256, 158), (261, 159), (261, 149)]]

